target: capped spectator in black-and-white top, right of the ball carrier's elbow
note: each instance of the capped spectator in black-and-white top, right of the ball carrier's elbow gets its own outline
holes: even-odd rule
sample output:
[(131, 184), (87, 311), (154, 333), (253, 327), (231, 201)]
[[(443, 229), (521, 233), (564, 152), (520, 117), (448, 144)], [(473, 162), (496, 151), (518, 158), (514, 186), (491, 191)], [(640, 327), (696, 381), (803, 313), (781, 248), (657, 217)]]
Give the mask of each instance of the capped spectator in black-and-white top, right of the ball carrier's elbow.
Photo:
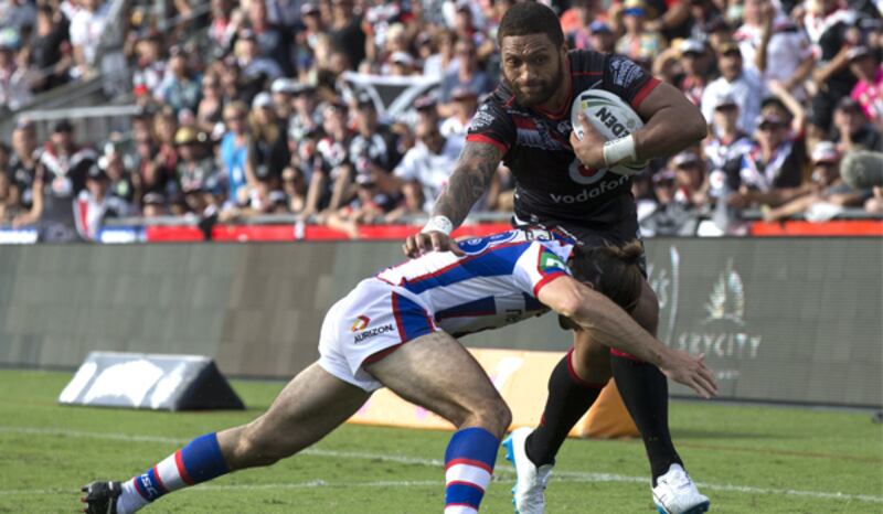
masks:
[(757, 120), (756, 142), (740, 162), (735, 184), (738, 193), (730, 196), (734, 207), (769, 203), (783, 190), (799, 188), (806, 164), (806, 140), (794, 139), (788, 121), (764, 115)]

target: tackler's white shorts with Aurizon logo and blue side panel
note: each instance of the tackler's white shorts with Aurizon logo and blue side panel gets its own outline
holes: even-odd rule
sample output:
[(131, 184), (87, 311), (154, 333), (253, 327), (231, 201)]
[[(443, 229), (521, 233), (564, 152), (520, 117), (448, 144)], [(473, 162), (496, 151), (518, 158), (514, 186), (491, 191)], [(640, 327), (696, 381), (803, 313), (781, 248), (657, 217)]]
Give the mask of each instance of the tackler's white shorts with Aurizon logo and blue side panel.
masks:
[(334, 303), (319, 336), (319, 365), (366, 392), (383, 387), (363, 367), (422, 335), (437, 332), (427, 309), (409, 293), (375, 278)]

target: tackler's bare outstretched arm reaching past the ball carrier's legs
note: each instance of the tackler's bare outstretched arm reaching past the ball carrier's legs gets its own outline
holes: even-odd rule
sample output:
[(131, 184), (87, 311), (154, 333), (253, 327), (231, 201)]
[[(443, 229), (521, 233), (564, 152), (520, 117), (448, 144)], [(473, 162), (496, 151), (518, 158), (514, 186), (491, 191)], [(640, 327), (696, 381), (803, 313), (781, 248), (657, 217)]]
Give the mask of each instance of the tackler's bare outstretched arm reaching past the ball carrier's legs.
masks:
[(558, 277), (540, 289), (538, 299), (583, 330), (592, 331), (593, 339), (602, 344), (655, 364), (666, 376), (701, 397), (717, 394), (714, 375), (702, 362), (704, 355), (696, 357), (666, 346), (619, 306), (578, 280)]

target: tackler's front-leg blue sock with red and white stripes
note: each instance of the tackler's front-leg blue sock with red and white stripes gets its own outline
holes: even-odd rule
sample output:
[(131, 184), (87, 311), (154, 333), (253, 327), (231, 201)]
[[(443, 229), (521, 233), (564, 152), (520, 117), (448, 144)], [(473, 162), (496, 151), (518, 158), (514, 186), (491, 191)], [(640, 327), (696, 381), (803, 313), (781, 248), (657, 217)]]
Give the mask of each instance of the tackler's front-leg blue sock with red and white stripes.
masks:
[(500, 440), (483, 428), (458, 430), (445, 451), (445, 514), (475, 514), (490, 484)]

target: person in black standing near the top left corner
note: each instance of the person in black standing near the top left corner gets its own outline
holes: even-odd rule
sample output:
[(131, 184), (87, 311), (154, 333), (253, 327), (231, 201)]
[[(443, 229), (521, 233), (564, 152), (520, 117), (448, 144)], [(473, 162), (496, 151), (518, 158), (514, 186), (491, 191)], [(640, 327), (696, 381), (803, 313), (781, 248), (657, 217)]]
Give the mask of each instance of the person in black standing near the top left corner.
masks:
[(35, 92), (52, 89), (68, 79), (73, 54), (67, 19), (49, 4), (38, 9), (36, 26), (31, 36), (31, 63), (41, 74), (33, 84)]

